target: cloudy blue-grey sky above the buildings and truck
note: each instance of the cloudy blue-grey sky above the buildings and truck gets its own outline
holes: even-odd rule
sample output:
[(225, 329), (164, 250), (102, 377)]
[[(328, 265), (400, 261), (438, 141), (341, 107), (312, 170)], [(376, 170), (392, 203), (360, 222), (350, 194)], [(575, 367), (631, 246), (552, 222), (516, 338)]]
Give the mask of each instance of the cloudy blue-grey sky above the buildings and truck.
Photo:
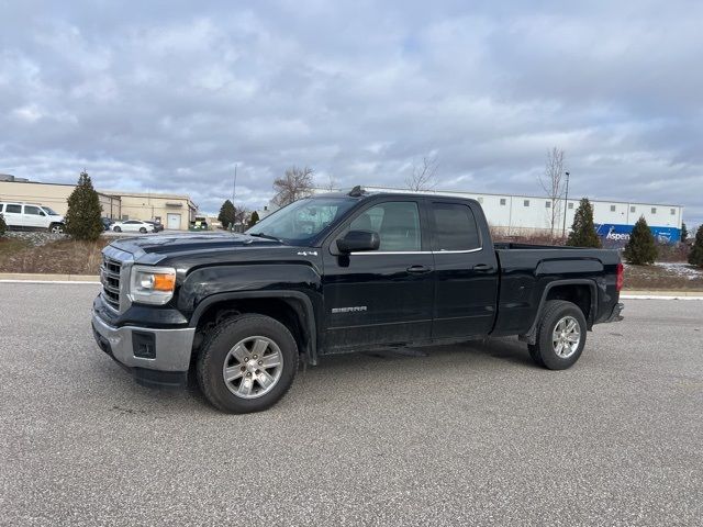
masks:
[(0, 0), (0, 172), (232, 193), (321, 186), (682, 204), (703, 223), (703, 2)]

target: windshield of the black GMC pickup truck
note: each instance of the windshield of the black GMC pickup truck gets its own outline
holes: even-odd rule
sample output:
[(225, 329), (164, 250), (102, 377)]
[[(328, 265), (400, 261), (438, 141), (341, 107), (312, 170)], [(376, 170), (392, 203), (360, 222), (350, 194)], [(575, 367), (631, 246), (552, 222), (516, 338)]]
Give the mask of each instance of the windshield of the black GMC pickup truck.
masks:
[(350, 198), (299, 200), (265, 217), (246, 234), (271, 236), (291, 245), (305, 245), (356, 202)]

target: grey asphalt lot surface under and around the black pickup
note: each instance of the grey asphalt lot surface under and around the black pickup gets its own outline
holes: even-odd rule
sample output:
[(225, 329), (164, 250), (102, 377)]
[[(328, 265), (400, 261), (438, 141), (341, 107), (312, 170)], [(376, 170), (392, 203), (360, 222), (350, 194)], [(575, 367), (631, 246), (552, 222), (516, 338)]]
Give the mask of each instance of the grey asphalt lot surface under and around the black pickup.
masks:
[(701, 525), (703, 301), (626, 301), (568, 371), (336, 357), (233, 416), (100, 352), (97, 291), (0, 283), (1, 525)]

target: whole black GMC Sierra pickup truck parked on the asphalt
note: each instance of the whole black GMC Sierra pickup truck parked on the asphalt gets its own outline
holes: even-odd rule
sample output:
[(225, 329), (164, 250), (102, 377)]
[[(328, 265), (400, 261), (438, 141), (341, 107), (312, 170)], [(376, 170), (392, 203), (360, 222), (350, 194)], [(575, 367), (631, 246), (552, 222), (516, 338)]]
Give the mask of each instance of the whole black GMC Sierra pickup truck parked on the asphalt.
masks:
[(300, 360), (515, 335), (561, 370), (593, 324), (622, 319), (616, 251), (493, 244), (477, 201), (439, 194), (357, 187), (245, 234), (123, 238), (103, 257), (100, 348), (141, 383), (193, 372), (232, 413), (275, 404)]

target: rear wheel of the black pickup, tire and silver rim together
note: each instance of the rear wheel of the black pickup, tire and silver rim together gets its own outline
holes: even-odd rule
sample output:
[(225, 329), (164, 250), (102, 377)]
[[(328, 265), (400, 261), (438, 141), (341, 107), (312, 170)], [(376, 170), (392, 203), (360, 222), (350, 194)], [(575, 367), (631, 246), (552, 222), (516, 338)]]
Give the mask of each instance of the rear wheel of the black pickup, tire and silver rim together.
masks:
[(570, 368), (583, 351), (585, 332), (585, 316), (578, 305), (550, 300), (537, 326), (537, 341), (528, 345), (529, 356), (549, 370)]

